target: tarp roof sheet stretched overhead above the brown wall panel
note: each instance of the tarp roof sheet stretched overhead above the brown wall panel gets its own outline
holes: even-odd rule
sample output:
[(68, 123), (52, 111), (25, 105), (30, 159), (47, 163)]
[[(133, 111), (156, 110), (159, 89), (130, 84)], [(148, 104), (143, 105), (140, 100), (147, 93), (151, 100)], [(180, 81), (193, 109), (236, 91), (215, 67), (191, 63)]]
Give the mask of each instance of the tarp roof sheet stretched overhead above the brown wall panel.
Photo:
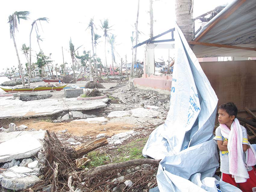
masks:
[[(235, 0), (220, 11), (196, 34), (195, 40), (210, 27), (199, 42), (256, 48), (256, 3), (244, 1), (232, 11), (234, 4), (239, 2), (241, 1)], [(220, 19), (221, 17), (224, 18)], [(256, 51), (202, 45), (193, 45), (193, 52), (197, 57), (256, 57)]]

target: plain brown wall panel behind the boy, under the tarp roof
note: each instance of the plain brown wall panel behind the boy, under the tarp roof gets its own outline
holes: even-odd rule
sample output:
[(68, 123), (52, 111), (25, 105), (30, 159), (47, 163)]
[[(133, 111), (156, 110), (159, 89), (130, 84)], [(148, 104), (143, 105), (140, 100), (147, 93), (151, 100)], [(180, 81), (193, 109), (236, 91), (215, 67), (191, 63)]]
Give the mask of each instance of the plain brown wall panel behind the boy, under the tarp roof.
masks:
[(200, 62), (219, 99), (232, 101), (238, 110), (256, 109), (256, 60)]

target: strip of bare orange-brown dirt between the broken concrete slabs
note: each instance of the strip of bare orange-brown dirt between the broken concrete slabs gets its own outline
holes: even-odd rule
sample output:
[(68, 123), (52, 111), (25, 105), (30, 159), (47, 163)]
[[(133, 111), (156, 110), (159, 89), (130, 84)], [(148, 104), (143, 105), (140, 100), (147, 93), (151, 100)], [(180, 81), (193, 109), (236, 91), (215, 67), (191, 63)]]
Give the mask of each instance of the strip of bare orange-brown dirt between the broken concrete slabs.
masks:
[[(37, 119), (23, 119), (19, 122), (15, 122), (17, 126), (27, 125), (28, 129), (42, 129), (48, 131), (62, 131), (66, 130), (68, 133), (72, 133), (76, 136), (89, 135), (95, 137), (98, 134), (106, 133), (108, 136), (112, 136), (121, 132), (126, 132), (133, 129), (133, 124), (129, 123), (116, 123), (108, 122), (107, 124), (101, 125), (100, 123), (87, 123), (87, 122), (63, 122), (63, 123), (52, 123), (46, 121), (39, 121)], [(106, 131), (104, 131), (104, 129)]]

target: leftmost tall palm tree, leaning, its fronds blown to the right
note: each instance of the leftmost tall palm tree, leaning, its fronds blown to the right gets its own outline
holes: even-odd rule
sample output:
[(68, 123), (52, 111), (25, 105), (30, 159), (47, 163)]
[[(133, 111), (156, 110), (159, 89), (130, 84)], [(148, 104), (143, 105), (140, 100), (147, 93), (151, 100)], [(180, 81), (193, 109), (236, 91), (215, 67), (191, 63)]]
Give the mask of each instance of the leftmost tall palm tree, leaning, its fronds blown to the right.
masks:
[(17, 45), (15, 42), (15, 38), (14, 38), (14, 33), (15, 33), (15, 30), (18, 30), (17, 21), (20, 24), (20, 19), (27, 20), (29, 14), (30, 14), (29, 11), (15, 11), (12, 15), (10, 15), (8, 17), (8, 23), (10, 24), (10, 35), (11, 35), (11, 38), (13, 39), (14, 47), (16, 50), (18, 63), (19, 63), (19, 69), (20, 69), (20, 76), (21, 76), (21, 81), (22, 81), (23, 86), (25, 86), (25, 82), (24, 82), (22, 67), (21, 67), (21, 63), (20, 63), (20, 57), (18, 54), (18, 49), (17, 49)]

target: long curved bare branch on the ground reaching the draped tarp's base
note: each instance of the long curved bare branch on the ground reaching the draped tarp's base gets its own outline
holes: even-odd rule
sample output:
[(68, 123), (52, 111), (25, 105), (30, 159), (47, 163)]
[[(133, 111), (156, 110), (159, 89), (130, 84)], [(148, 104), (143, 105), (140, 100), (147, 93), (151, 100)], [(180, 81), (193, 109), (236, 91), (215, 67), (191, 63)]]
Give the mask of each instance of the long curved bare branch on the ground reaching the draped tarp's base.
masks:
[(98, 166), (87, 172), (84, 172), (82, 174), (82, 177), (92, 177), (94, 175), (98, 175), (100, 173), (110, 171), (113, 169), (120, 169), (124, 167), (130, 167), (130, 166), (136, 166), (136, 165), (142, 165), (142, 164), (159, 165), (159, 162), (160, 160), (158, 159), (133, 159), (133, 160), (125, 161), (121, 163), (112, 163), (108, 165)]

